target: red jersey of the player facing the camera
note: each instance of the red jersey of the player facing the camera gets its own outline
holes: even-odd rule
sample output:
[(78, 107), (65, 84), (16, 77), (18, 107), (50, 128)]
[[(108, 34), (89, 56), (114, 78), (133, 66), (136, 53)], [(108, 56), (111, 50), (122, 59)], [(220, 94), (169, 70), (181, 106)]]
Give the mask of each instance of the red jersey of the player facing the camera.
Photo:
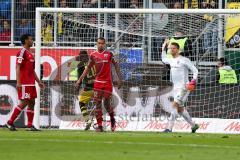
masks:
[(110, 51), (99, 53), (94, 51), (90, 54), (90, 63), (95, 64), (96, 77), (95, 82), (112, 83), (111, 63), (113, 54)]

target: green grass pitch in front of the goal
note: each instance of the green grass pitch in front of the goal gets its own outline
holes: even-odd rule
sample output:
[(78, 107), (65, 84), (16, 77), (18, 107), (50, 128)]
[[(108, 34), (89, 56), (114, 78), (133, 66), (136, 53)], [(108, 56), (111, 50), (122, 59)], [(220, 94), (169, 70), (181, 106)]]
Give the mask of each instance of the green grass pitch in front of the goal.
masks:
[(0, 129), (1, 160), (240, 160), (240, 135)]

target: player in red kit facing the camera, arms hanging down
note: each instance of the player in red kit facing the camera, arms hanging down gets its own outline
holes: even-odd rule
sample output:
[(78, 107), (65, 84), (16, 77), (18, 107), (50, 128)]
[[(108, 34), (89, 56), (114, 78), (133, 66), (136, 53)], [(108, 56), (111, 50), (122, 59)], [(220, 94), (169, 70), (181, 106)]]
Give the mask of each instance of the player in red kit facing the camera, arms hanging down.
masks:
[(93, 65), (96, 68), (96, 77), (94, 80), (94, 103), (96, 105), (95, 116), (97, 119), (98, 127), (96, 131), (102, 132), (102, 100), (104, 101), (104, 106), (111, 118), (111, 130), (114, 131), (116, 128), (116, 121), (114, 118), (113, 107), (110, 105), (110, 100), (112, 96), (112, 75), (111, 75), (111, 64), (114, 65), (116, 73), (118, 75), (118, 88), (122, 86), (122, 76), (120, 72), (120, 67), (118, 63), (115, 61), (113, 54), (105, 50), (106, 42), (104, 38), (98, 38), (97, 40), (97, 51), (94, 51), (90, 54), (89, 62), (79, 80), (76, 83), (76, 87), (78, 88), (81, 84), (83, 78), (87, 75), (89, 70)]

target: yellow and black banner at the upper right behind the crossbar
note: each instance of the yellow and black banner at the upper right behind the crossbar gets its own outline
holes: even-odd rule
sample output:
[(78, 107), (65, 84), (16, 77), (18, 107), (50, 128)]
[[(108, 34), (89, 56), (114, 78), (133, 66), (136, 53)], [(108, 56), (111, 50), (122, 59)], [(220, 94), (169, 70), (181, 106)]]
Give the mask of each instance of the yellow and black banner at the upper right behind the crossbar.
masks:
[[(239, 2), (229, 2), (228, 9), (240, 9)], [(228, 47), (240, 45), (240, 15), (229, 15), (226, 20), (225, 42)]]

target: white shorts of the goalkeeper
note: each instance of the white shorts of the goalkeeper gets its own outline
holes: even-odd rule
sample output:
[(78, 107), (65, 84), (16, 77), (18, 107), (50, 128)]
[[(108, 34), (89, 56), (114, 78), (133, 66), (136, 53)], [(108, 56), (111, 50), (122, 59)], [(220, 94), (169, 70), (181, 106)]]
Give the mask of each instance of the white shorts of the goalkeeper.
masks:
[(177, 102), (180, 106), (184, 106), (189, 93), (190, 91), (188, 91), (186, 88), (175, 88), (173, 90), (174, 101)]

